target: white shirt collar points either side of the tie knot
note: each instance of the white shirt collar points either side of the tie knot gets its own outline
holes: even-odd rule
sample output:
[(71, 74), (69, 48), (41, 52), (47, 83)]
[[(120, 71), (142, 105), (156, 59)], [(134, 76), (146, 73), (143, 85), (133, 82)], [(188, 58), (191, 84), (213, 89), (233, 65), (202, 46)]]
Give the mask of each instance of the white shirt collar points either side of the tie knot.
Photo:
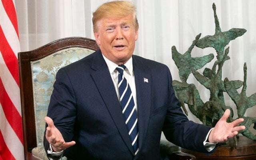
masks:
[[(112, 74), (114, 72), (114, 70), (116, 70), (116, 67), (118, 66), (117, 64), (115, 64), (114, 62), (112, 62), (111, 60), (109, 60), (108, 58), (106, 58), (103, 54), (102, 54), (104, 60), (106, 61), (106, 64), (108, 66), (108, 70), (110, 72), (110, 74)], [(132, 75), (133, 72), (133, 66), (132, 66), (132, 57), (124, 64), (128, 70), (128, 73), (130, 75)]]

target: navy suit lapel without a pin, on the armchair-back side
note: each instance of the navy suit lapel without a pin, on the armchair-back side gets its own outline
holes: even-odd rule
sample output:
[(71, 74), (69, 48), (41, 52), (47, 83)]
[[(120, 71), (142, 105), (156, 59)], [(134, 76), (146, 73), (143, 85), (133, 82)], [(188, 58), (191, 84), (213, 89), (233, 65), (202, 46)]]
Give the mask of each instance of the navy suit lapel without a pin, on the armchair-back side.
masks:
[(95, 70), (92, 73), (92, 78), (104, 100), (108, 111), (118, 128), (120, 135), (122, 136), (124, 142), (126, 143), (129, 150), (134, 154), (131, 140), (128, 134), (128, 130), (125, 125), (124, 116), (120, 107), (120, 103), (116, 96), (116, 90), (112, 78), (110, 76), (108, 66), (102, 57), (102, 53), (97, 51), (96, 57), (92, 63), (92, 69)]

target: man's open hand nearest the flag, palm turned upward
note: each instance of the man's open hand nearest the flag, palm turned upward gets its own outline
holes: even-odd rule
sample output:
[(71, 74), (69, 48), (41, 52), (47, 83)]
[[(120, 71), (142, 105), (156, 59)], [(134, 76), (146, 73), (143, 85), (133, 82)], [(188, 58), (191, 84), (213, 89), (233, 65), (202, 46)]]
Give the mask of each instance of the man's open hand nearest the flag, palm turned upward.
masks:
[(54, 152), (60, 152), (76, 144), (75, 141), (71, 141), (71, 142), (64, 141), (62, 134), (54, 126), (53, 120), (50, 117), (46, 116), (44, 120), (48, 124), (48, 127), (46, 128), (45, 137), (46, 137), (46, 140), (51, 144)]

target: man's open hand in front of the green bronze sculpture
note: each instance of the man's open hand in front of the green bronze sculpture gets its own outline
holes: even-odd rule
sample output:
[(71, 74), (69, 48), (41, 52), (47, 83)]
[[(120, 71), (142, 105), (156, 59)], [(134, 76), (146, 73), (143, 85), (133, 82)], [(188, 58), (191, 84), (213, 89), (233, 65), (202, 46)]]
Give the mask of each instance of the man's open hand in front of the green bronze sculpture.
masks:
[(227, 109), (216, 126), (210, 132), (208, 141), (210, 143), (225, 142), (228, 138), (232, 138), (238, 134), (240, 130), (244, 130), (245, 126), (238, 126), (244, 121), (244, 118), (239, 118), (233, 122), (228, 123), (227, 119), (230, 115), (230, 110)]

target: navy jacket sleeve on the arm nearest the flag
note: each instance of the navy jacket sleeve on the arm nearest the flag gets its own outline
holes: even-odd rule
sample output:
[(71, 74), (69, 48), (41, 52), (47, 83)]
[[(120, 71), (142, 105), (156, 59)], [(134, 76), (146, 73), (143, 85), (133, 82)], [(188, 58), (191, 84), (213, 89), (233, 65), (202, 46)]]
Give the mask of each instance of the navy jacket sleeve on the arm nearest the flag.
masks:
[[(63, 69), (57, 72), (47, 116), (52, 118), (54, 125), (60, 130), (65, 142), (70, 142), (74, 136), (76, 98), (68, 74)], [(45, 132), (44, 149), (46, 153), (49, 150)]]

